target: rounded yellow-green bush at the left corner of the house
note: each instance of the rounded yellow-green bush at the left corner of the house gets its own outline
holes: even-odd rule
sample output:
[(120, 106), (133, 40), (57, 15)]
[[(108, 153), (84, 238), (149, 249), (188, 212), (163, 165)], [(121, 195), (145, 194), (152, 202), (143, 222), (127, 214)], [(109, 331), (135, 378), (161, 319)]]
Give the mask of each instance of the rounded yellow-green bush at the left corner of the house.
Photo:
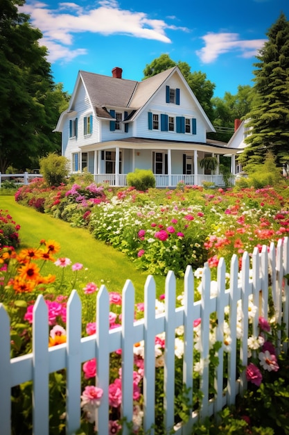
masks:
[(49, 186), (60, 186), (69, 174), (68, 161), (64, 156), (55, 153), (40, 158), (40, 173)]

